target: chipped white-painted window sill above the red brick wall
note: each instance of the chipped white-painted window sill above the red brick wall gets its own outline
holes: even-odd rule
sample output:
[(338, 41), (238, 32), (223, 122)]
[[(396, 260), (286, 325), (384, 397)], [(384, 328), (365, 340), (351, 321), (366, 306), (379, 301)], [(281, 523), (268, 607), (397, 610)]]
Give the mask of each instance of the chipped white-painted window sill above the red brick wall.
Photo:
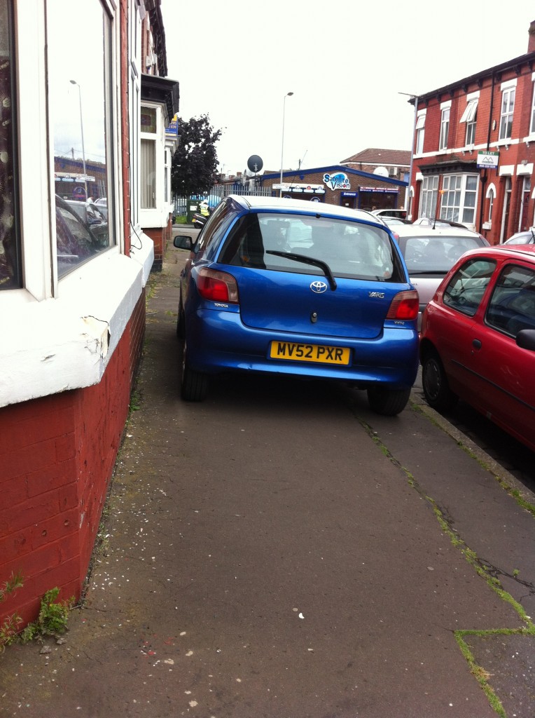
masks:
[(150, 239), (143, 247), (136, 258), (96, 257), (60, 281), (57, 299), (0, 294), (0, 334), (9, 337), (0, 348), (0, 406), (100, 381), (150, 271)]

